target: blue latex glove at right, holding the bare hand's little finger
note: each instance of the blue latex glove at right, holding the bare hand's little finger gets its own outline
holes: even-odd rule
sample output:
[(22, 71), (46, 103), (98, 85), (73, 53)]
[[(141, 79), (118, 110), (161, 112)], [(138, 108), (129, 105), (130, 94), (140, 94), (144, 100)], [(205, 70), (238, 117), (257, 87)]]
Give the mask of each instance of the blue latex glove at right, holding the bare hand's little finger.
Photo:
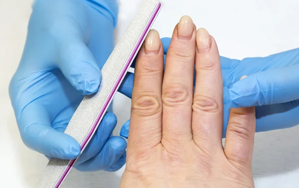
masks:
[[(166, 54), (170, 38), (162, 38)], [(257, 132), (299, 125), (299, 48), (243, 60), (220, 57), (223, 77), (224, 130), (230, 108), (256, 106)], [(242, 76), (248, 76), (241, 79)], [(128, 137), (130, 121), (121, 130)]]

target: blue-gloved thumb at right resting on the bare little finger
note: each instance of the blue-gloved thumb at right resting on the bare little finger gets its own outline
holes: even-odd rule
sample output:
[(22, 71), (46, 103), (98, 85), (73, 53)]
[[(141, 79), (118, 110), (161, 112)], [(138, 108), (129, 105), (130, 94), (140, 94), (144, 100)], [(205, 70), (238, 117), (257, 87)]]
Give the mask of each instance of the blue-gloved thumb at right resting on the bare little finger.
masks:
[(248, 75), (229, 90), (233, 108), (285, 103), (299, 99), (299, 64)]

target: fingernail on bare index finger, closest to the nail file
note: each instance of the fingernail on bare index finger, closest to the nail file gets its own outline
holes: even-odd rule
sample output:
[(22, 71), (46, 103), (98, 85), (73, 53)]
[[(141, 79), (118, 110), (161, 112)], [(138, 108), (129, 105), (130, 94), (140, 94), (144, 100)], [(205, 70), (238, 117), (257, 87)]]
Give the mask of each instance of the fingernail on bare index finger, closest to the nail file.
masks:
[(161, 41), (158, 31), (150, 30), (145, 42), (146, 54), (158, 54), (160, 51)]

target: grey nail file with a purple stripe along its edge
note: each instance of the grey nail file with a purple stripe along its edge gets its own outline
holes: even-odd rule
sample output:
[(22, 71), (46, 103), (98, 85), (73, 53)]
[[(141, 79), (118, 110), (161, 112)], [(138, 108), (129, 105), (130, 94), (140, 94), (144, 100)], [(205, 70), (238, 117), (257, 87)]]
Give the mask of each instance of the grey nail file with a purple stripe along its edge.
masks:
[[(86, 96), (71, 118), (65, 134), (81, 145), (81, 154), (98, 128), (109, 104), (141, 48), (162, 4), (144, 0), (124, 35), (102, 68), (102, 81), (96, 94)], [(77, 159), (51, 158), (37, 188), (60, 188)]]

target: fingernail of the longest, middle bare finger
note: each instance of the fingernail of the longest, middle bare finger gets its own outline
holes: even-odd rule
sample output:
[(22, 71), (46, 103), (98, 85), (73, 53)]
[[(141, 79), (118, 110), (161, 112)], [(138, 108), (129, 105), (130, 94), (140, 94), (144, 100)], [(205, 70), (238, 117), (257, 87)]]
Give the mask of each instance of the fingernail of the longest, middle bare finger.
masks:
[(184, 15), (178, 23), (177, 34), (179, 39), (190, 40), (194, 30), (194, 23), (190, 16)]

